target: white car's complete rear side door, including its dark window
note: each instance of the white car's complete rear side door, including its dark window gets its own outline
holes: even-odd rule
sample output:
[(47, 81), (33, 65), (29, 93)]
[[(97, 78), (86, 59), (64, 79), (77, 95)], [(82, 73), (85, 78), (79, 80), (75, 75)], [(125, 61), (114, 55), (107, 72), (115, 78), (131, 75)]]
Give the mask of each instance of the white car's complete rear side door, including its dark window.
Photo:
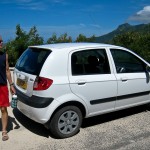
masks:
[(85, 101), (89, 115), (114, 110), (117, 82), (105, 49), (70, 53), (70, 88)]

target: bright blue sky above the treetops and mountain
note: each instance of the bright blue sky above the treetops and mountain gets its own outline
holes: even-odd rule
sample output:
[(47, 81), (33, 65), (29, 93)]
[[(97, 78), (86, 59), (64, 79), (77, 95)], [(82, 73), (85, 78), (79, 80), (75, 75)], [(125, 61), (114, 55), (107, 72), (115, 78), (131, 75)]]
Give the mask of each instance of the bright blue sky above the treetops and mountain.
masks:
[(36, 26), (45, 40), (53, 33), (101, 36), (123, 23), (150, 23), (150, 0), (0, 0), (0, 35), (15, 37), (16, 25)]

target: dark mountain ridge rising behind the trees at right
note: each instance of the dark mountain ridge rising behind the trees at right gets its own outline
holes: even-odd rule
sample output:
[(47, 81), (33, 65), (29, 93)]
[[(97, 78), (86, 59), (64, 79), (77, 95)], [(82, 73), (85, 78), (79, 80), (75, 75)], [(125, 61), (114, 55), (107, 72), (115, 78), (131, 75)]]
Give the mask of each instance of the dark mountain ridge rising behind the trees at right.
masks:
[(123, 34), (125, 32), (140, 32), (140, 33), (150, 33), (150, 23), (149, 24), (140, 24), (140, 25), (130, 25), (128, 23), (119, 25), (118, 28), (108, 34), (99, 36), (95, 38), (95, 42), (97, 43), (108, 43), (111, 41), (115, 36), (119, 34)]

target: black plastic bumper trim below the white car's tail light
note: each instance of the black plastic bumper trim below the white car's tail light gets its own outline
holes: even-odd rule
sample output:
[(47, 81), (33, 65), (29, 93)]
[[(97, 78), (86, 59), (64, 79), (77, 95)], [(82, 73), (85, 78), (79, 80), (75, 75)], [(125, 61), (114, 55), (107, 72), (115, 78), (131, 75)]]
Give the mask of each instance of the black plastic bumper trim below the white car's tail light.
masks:
[(39, 97), (35, 95), (28, 97), (17, 89), (16, 89), (16, 94), (18, 96), (19, 101), (34, 108), (45, 108), (49, 106), (54, 100), (54, 98), (52, 97), (47, 98), (47, 97)]

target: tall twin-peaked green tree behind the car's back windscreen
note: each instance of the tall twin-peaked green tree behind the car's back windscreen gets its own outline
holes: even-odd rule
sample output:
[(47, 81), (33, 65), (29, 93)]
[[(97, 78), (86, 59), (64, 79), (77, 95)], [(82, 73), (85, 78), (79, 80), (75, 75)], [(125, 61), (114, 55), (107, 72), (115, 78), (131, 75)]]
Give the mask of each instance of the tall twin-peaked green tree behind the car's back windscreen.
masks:
[(28, 46), (39, 44), (43, 44), (43, 38), (39, 36), (35, 26), (27, 33), (18, 24), (16, 26), (16, 38), (6, 44), (6, 50), (10, 58), (10, 66), (14, 66), (17, 58), (19, 58)]

